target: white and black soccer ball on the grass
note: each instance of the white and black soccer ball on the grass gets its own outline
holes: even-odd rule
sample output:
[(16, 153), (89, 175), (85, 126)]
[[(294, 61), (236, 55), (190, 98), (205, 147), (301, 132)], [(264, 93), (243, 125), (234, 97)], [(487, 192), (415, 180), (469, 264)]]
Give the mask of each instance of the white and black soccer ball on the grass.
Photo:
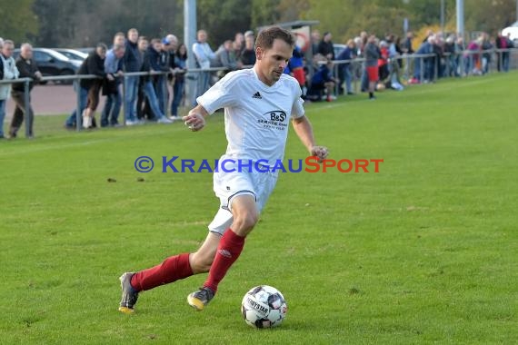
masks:
[(257, 329), (279, 326), (286, 317), (288, 306), (281, 291), (268, 286), (256, 286), (244, 294), (241, 313), (244, 321)]

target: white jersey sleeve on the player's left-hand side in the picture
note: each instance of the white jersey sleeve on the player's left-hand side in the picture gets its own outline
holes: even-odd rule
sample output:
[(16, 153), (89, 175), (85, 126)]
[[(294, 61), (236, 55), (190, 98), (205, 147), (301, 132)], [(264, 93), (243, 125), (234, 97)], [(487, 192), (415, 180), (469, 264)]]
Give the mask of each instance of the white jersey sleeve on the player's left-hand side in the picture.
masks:
[[(237, 104), (235, 92), (236, 78), (233, 74), (226, 74), (223, 79), (218, 81), (206, 93), (196, 98), (196, 102), (204, 107), (207, 113), (214, 113), (216, 110), (232, 107)], [(234, 90), (234, 91), (233, 91)]]

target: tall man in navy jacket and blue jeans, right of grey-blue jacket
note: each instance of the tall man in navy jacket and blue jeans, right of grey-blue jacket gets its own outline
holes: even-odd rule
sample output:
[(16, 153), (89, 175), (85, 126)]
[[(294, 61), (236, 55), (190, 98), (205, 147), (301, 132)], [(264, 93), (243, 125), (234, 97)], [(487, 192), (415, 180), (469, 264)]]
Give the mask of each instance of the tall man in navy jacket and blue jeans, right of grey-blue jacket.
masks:
[[(139, 72), (142, 68), (142, 56), (138, 51), (138, 31), (129, 29), (123, 58), (126, 73)], [(139, 77), (125, 76), (125, 120), (127, 125), (136, 124), (136, 95)]]

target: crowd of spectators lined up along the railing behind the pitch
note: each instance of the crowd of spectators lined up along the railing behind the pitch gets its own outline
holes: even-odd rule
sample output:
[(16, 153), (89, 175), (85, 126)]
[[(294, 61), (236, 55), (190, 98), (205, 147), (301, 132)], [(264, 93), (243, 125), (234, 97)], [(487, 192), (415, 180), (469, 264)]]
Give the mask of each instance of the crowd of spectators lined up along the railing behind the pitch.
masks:
[[(194, 105), (195, 98), (204, 94), (218, 78), (255, 63), (253, 31), (237, 33), (215, 50), (207, 39), (208, 33), (199, 30), (192, 46), (196, 68), (201, 72), (189, 74), (195, 79), (190, 100), (184, 99), (187, 47), (179, 43), (174, 34), (150, 39), (132, 28), (126, 34), (116, 33), (109, 47), (97, 44), (77, 72), (95, 77), (82, 78), (75, 84), (78, 106), (66, 119), (65, 128), (75, 129), (77, 118), (85, 129), (120, 126), (123, 104), (125, 125), (146, 121), (173, 123), (179, 119), (182, 104)], [(464, 44), (462, 36), (430, 31), (416, 51), (413, 40), (411, 32), (403, 39), (394, 34), (385, 34), (380, 39), (362, 32), (347, 40), (344, 48), (336, 52), (333, 35), (327, 32), (321, 36), (314, 30), (309, 47), (312, 60), (307, 61), (308, 54), (296, 46), (284, 73), (298, 81), (306, 101), (332, 102), (338, 94), (354, 95), (354, 80), (358, 80), (360, 90), (374, 100), (374, 93), (384, 88), (401, 91), (406, 84), (431, 83), (446, 76), (486, 74), (492, 59), (496, 59), (498, 71), (507, 72), (510, 67), (510, 53), (494, 50), (513, 47), (509, 37), (501, 33), (494, 37), (480, 34)], [(31, 44), (21, 44), (16, 60), (14, 48), (12, 41), (0, 38), (0, 80), (31, 78), (30, 97), (42, 74), (33, 59)], [(216, 71), (214, 67), (218, 67)], [(105, 97), (105, 105), (97, 123), (95, 112), (101, 95)], [(0, 138), (15, 138), (24, 118), (30, 128), (29, 136), (34, 135), (34, 111), (30, 106), (25, 109), (25, 96), (24, 83), (0, 84)], [(15, 113), (5, 134), (3, 123), (8, 97), (15, 102)]]

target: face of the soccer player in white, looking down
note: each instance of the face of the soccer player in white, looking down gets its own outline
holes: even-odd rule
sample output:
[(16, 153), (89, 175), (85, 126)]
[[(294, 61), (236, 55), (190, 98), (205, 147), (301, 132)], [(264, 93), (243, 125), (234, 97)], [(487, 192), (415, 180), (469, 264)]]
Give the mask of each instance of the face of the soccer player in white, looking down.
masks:
[(270, 49), (258, 47), (255, 51), (259, 77), (264, 84), (273, 85), (284, 72), (288, 60), (292, 57), (293, 48), (281, 39), (275, 39)]

